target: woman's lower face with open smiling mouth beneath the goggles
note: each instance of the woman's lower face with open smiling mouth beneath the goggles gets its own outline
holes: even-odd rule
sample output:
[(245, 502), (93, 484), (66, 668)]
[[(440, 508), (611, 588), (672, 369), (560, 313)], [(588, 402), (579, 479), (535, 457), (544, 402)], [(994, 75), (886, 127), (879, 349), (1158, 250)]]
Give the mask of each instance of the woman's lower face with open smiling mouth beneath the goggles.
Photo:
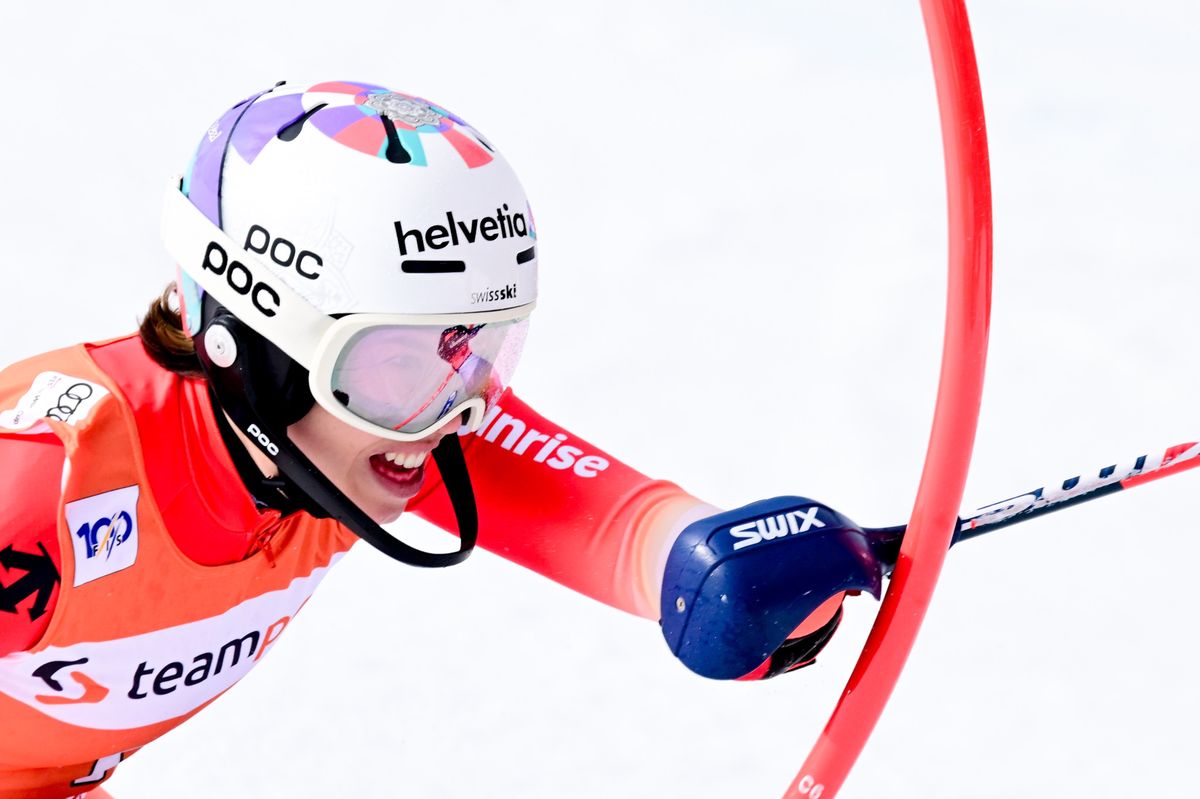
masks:
[(419, 441), (392, 441), (350, 427), (318, 404), (288, 427), (288, 438), (350, 501), (386, 524), (420, 489), (430, 451), (457, 428), (451, 422)]

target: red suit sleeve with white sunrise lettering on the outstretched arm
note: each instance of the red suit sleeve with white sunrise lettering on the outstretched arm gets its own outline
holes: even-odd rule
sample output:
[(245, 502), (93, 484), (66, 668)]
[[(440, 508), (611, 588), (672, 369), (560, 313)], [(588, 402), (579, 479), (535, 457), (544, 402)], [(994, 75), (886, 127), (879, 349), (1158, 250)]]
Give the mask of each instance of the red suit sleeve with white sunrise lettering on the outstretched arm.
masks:
[[(462, 438), (479, 507), (479, 546), (595, 600), (659, 618), (676, 535), (718, 509), (653, 480), (539, 415), (511, 390)], [(454, 530), (430, 462), (409, 510)]]

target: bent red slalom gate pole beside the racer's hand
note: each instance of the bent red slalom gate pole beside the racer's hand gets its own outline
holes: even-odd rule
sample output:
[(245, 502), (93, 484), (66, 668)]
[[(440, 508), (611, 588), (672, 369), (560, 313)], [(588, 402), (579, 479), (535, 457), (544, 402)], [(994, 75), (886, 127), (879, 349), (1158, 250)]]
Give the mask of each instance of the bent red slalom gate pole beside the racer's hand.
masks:
[(883, 714), (942, 571), (974, 447), (991, 312), (991, 179), (962, 0), (922, 0), (946, 152), (949, 281), (932, 431), (892, 584), (829, 722), (785, 799), (832, 799)]

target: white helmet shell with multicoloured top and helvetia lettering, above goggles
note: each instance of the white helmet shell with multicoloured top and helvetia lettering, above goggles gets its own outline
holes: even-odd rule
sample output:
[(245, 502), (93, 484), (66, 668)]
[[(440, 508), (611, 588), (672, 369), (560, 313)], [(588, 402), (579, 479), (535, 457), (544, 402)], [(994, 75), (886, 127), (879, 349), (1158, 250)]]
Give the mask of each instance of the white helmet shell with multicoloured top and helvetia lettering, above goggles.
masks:
[[(472, 313), (536, 296), (536, 233), (516, 175), (475, 128), (420, 97), (276, 86), (209, 127), (182, 188), (324, 313)], [(182, 283), (194, 334), (199, 292)]]

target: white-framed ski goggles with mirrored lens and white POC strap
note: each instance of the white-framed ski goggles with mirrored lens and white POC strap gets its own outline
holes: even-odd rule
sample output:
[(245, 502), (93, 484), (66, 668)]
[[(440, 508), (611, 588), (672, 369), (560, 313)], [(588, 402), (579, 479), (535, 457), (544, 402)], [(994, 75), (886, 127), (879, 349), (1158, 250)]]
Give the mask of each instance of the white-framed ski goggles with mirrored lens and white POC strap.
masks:
[[(254, 253), (168, 191), (163, 238), (182, 272), (185, 307), (211, 294), (240, 322), (308, 370), (313, 398), (373, 435), (415, 441), (461, 421), (478, 429), (508, 388), (534, 304), (456, 314), (323, 313)], [(216, 328), (205, 347), (232, 366), (236, 342)]]

